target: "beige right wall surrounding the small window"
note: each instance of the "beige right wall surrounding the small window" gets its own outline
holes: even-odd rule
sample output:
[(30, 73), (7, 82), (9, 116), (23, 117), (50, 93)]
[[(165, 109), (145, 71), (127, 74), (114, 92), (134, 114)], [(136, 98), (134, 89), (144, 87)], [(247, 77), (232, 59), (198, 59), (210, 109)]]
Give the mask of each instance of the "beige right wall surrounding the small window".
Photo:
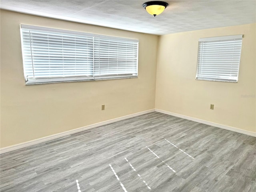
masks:
[[(156, 109), (256, 132), (255, 28), (247, 24), (160, 36)], [(244, 34), (238, 83), (195, 80), (198, 39), (237, 34)]]

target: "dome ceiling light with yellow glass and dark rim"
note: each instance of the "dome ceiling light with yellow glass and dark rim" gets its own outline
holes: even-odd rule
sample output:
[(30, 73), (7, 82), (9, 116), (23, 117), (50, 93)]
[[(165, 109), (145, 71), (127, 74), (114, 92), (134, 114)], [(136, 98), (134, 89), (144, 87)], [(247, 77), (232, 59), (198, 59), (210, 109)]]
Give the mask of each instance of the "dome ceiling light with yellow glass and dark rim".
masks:
[(162, 1), (149, 1), (142, 5), (149, 14), (159, 15), (168, 6), (168, 3)]

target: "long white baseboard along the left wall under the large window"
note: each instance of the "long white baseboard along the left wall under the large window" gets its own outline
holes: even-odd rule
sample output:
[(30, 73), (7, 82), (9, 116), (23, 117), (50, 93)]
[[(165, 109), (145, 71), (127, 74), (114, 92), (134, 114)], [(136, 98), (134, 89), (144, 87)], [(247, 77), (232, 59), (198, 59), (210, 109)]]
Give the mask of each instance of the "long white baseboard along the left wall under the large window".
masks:
[(42, 137), (42, 138), (31, 140), (31, 141), (28, 141), (28, 142), (24, 142), (24, 143), (12, 145), (12, 146), (4, 147), (4, 148), (0, 149), (0, 154), (10, 152), (10, 151), (13, 151), (13, 150), (16, 150), (16, 149), (32, 146), (32, 145), (35, 145), (35, 144), (38, 144), (38, 143), (46, 142), (46, 141), (49, 141), (49, 140), (53, 140), (53, 139), (56, 139), (56, 138), (60, 138), (60, 137), (63, 137), (63, 136), (67, 136), (67, 135), (70, 135), (70, 134), (81, 132), (81, 131), (84, 131), (84, 130), (92, 129), (92, 128), (99, 127), (99, 126), (102, 126), (102, 125), (110, 124), (110, 123), (117, 122), (117, 121), (120, 121), (120, 120), (136, 117), (136, 116), (147, 114), (147, 113), (151, 113), (151, 112), (155, 112), (155, 109), (146, 110), (146, 111), (142, 111), (142, 112), (138, 112), (138, 113), (118, 117), (118, 118), (115, 118), (115, 119), (106, 120), (106, 121), (103, 121), (103, 122), (99, 122), (99, 123), (95, 123), (95, 124), (92, 124), (92, 125), (80, 127), (80, 128), (77, 128), (77, 129), (72, 129), (72, 130), (69, 130), (69, 131), (62, 132), (62, 133), (57, 133), (57, 134), (54, 134), (54, 135)]

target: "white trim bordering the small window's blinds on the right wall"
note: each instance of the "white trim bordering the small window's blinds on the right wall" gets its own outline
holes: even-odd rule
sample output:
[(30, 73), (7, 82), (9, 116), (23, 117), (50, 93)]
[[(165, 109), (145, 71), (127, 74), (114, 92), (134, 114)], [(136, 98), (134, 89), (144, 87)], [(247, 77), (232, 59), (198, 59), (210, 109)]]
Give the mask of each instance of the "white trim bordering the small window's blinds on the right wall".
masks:
[[(240, 58), (242, 53), (242, 42), (241, 42), (241, 48), (240, 48), (240, 56), (239, 56), (239, 64), (238, 64), (238, 72), (236, 79), (232, 78), (217, 78), (217, 77), (198, 77), (198, 68), (201, 65), (199, 62), (200, 58), (202, 59), (202, 56), (200, 56), (200, 42), (208, 42), (208, 41), (218, 41), (218, 40), (232, 40), (232, 39), (242, 39), (243, 35), (232, 35), (232, 36), (218, 36), (218, 37), (209, 37), (209, 38), (199, 38), (198, 40), (198, 55), (197, 55), (197, 67), (196, 67), (196, 80), (206, 80), (206, 81), (218, 81), (218, 82), (238, 82), (238, 74), (239, 74), (239, 68), (240, 68)], [(242, 40), (241, 40), (242, 41)], [(231, 55), (231, 54), (230, 54)]]

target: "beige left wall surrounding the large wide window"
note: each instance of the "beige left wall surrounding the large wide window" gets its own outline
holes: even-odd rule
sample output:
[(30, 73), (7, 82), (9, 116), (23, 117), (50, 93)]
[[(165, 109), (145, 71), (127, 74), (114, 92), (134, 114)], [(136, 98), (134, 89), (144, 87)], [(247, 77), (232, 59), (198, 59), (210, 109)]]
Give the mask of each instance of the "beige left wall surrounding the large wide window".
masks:
[[(138, 78), (25, 86), (20, 24), (139, 39)], [(154, 108), (158, 36), (6, 10), (0, 27), (1, 148)]]

